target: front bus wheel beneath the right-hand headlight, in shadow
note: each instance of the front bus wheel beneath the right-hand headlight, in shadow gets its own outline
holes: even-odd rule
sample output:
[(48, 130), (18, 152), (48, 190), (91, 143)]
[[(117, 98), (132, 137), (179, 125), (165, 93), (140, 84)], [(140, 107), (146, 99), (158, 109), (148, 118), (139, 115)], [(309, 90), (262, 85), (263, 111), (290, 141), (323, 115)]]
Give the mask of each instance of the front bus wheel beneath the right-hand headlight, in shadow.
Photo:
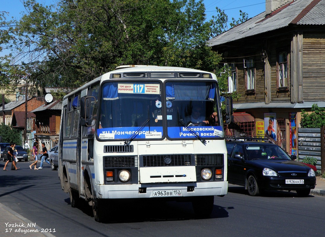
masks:
[(198, 218), (210, 217), (213, 210), (214, 196), (194, 197), (192, 206), (195, 216)]

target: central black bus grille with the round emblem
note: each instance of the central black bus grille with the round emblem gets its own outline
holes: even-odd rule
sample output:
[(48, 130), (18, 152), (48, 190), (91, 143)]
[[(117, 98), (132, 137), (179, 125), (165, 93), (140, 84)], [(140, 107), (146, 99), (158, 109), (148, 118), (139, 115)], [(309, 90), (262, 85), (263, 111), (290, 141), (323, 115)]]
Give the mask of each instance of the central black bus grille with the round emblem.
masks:
[(140, 164), (143, 167), (192, 165), (192, 157), (190, 154), (143, 155)]

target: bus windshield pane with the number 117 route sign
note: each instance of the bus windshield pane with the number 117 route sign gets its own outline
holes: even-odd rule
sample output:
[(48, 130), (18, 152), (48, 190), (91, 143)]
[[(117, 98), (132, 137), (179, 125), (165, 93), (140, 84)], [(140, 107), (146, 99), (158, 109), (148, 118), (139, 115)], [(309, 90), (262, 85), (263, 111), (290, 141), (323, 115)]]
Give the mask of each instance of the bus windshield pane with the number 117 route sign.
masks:
[(100, 139), (162, 138), (161, 84), (107, 82), (102, 86), (99, 111)]

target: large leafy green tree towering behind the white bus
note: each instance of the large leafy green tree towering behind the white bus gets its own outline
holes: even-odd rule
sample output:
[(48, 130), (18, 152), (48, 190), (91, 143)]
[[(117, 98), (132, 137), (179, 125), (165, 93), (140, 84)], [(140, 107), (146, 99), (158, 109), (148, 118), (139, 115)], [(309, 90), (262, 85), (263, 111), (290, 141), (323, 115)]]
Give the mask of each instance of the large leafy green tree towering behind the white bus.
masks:
[(206, 41), (202, 0), (64, 0), (24, 2), (14, 22), (23, 65), (35, 84), (76, 87), (125, 64), (181, 66), (213, 71), (220, 55)]

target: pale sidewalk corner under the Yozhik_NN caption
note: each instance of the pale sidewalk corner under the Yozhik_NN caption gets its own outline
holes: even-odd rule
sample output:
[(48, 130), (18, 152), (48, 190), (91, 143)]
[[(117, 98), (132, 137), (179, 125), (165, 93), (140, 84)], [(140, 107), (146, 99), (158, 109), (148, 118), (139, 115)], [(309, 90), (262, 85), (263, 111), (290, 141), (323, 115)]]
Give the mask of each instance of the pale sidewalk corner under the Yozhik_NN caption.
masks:
[(0, 203), (1, 237), (55, 237), (51, 233), (41, 231), (42, 228), (36, 223)]

